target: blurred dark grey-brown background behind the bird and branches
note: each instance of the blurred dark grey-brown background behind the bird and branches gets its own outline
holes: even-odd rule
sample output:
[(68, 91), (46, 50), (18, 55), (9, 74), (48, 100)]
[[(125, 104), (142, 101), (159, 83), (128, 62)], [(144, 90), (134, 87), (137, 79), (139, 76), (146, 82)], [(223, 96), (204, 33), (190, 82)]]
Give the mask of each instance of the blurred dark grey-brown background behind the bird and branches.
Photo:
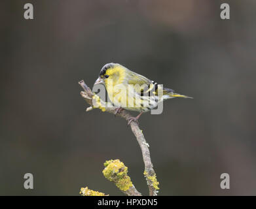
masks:
[[(24, 19), (33, 3), (34, 20)], [(230, 20), (220, 5), (229, 3)], [(123, 195), (102, 174), (120, 159), (147, 195), (126, 121), (88, 105), (105, 63), (194, 99), (143, 114), (158, 195), (256, 195), (256, 1), (1, 1), (0, 195)], [(136, 115), (136, 112), (132, 112)], [(24, 189), (24, 174), (34, 189)], [(230, 175), (230, 189), (220, 176)]]

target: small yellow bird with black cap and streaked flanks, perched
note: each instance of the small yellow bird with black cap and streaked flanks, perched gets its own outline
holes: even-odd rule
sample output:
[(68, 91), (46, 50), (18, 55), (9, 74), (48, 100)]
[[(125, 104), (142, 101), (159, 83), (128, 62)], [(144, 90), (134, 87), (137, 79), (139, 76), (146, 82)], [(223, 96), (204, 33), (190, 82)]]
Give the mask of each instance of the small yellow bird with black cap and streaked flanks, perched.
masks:
[(138, 122), (143, 112), (149, 112), (166, 99), (175, 97), (192, 97), (174, 93), (173, 89), (164, 88), (155, 81), (130, 71), (119, 63), (107, 63), (101, 70), (98, 79), (94, 83), (103, 84), (113, 106), (116, 107), (115, 115), (123, 109), (137, 111), (136, 117), (128, 118), (128, 125), (132, 121)]

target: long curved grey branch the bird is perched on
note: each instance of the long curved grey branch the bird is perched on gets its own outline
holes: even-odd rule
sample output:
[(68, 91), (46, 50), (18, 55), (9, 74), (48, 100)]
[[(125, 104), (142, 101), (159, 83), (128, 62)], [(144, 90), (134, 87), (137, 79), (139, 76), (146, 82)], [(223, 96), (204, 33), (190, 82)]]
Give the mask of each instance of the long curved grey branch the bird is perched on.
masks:
[[(83, 80), (79, 82), (80, 86), (84, 89), (84, 91), (81, 91), (81, 96), (85, 99), (85, 101), (90, 105), (89, 108), (86, 109), (86, 111), (92, 110), (94, 108), (100, 108), (103, 112), (109, 112), (111, 114), (115, 114), (115, 110), (117, 107), (113, 105), (109, 105), (109, 103), (105, 103), (98, 97), (98, 95), (94, 94), (90, 88), (84, 83)], [(95, 105), (96, 104), (96, 105)], [(128, 120), (132, 116), (126, 112), (126, 110), (122, 110), (117, 116), (120, 116), (121, 118), (124, 118), (125, 120)], [(132, 129), (132, 133), (134, 133), (137, 142), (139, 143), (139, 146), (141, 148), (143, 161), (145, 164), (145, 171), (144, 176), (147, 180), (147, 185), (149, 186), (149, 195), (150, 196), (156, 196), (158, 188), (158, 182), (156, 180), (156, 174), (155, 170), (153, 169), (153, 164), (151, 162), (151, 157), (149, 153), (149, 144), (147, 144), (145, 137), (142, 133), (142, 131), (139, 129), (139, 125), (135, 121), (132, 121), (130, 123), (130, 127)]]

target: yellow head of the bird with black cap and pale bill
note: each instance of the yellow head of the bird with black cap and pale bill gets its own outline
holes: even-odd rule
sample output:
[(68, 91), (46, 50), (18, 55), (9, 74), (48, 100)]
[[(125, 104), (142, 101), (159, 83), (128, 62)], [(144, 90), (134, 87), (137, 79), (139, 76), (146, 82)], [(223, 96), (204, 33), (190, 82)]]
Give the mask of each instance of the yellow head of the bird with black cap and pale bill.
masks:
[(99, 78), (96, 80), (94, 85), (106, 85), (109, 80), (112, 80), (113, 83), (119, 82), (122, 71), (124, 71), (124, 67), (122, 65), (118, 63), (108, 63), (102, 67)]

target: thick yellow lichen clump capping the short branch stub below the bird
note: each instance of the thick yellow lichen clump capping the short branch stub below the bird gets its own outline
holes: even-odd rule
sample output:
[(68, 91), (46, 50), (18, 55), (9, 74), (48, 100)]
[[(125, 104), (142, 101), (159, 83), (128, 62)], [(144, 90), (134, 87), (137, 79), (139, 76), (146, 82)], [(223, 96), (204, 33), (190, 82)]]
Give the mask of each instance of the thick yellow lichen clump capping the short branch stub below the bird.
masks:
[(132, 187), (132, 181), (127, 175), (128, 168), (119, 159), (105, 161), (104, 166), (103, 175), (114, 182), (120, 190), (127, 191)]

